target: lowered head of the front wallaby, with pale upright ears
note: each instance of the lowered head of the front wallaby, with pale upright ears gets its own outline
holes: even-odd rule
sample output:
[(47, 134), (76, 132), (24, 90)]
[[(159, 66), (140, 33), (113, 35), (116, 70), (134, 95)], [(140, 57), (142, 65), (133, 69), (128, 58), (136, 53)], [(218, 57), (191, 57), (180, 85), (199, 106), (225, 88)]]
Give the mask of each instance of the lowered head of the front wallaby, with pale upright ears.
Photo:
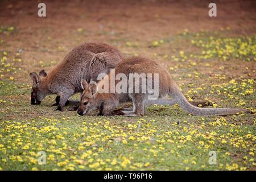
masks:
[(82, 79), (81, 86), (84, 91), (81, 94), (80, 104), (77, 113), (80, 115), (84, 115), (98, 105), (96, 100), (97, 84), (94, 81), (88, 84), (86, 80)]

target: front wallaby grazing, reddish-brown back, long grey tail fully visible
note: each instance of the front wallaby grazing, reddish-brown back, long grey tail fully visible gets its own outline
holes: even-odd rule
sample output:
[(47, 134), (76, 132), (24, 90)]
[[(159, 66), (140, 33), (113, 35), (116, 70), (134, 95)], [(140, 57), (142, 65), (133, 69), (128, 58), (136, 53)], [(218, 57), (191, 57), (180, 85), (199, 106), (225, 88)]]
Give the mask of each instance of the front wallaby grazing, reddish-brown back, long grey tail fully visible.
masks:
[[(143, 57), (131, 57), (118, 63), (114, 69), (114, 76), (117, 77), (117, 75), (123, 74), (126, 77), (131, 77), (131, 74), (144, 74), (144, 77), (149, 78), (150, 74), (151, 76), (154, 74), (152, 82), (150, 83), (150, 81), (147, 80), (146, 86), (151, 84), (152, 88), (155, 89), (156, 85), (158, 85), (157, 100), (148, 99), (148, 96), (152, 96), (152, 92), (141, 92), (143, 89), (142, 87), (145, 86), (143, 85), (142, 79), (139, 80), (137, 85), (132, 84), (132, 86), (129, 84), (130, 80), (125, 81), (125, 84), (123, 84), (122, 86), (126, 86), (127, 88), (125, 89), (131, 90), (132, 92), (123, 93), (117, 92), (116, 90), (115, 92), (111, 92), (112, 80), (109, 80), (109, 77), (112, 77), (111, 73), (112, 71), (110, 71), (109, 75), (104, 77), (97, 84), (95, 82), (88, 84), (86, 80), (81, 81), (84, 92), (81, 95), (81, 100), (77, 113), (79, 113), (80, 115), (84, 115), (88, 113), (88, 111), (96, 107), (97, 109), (100, 109), (100, 114), (109, 115), (111, 111), (115, 109), (119, 104), (130, 101), (130, 99), (133, 101), (133, 110), (124, 110), (122, 111), (123, 115), (144, 115), (146, 105), (148, 104), (174, 105), (175, 103), (177, 103), (181, 107), (181, 109), (193, 115), (227, 115), (236, 114), (241, 111), (249, 112), (249, 110), (246, 109), (200, 108), (190, 104), (184, 97), (183, 93), (180, 91), (177, 84), (174, 82), (174, 80), (172, 80), (170, 73), (164, 67), (162, 67), (162, 65)], [(150, 74), (148, 75), (148, 73)], [(155, 80), (155, 78), (157, 77), (158, 80)], [(119, 82), (121, 82), (121, 79), (114, 80), (115, 88), (118, 88)], [(139, 93), (134, 92), (135, 86), (139, 86)], [(100, 93), (99, 88), (106, 89), (107, 92)], [(172, 100), (163, 98), (167, 95), (171, 96)]]

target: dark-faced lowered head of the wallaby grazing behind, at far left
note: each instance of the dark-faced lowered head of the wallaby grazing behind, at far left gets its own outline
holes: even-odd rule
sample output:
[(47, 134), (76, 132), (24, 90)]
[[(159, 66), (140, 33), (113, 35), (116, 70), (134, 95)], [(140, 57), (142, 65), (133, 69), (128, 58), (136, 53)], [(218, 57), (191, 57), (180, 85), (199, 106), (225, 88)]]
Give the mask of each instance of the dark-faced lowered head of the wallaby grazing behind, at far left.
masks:
[(32, 79), (32, 89), (31, 89), (31, 101), (32, 105), (39, 105), (46, 95), (43, 92), (42, 86), (42, 78), (46, 77), (47, 73), (44, 71), (39, 72), (39, 75), (35, 72), (30, 73), (30, 77)]

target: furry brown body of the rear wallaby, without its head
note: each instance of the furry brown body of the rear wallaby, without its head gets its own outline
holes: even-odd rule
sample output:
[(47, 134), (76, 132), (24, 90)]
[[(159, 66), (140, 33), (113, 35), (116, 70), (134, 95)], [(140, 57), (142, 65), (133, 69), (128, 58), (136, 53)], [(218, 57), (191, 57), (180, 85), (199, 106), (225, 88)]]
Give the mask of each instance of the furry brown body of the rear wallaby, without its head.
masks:
[[(102, 57), (101, 60), (93, 60), (98, 53), (105, 57)], [(97, 81), (98, 74), (109, 73), (110, 69), (122, 59), (122, 53), (113, 46), (104, 43), (84, 43), (69, 52), (46, 78), (51, 85), (63, 86), (63, 82), (66, 82), (67, 85), (71, 83), (76, 92), (82, 92), (82, 78), (88, 81)], [(92, 61), (94, 64), (91, 64)], [(57, 91), (52, 89), (53, 92)]]

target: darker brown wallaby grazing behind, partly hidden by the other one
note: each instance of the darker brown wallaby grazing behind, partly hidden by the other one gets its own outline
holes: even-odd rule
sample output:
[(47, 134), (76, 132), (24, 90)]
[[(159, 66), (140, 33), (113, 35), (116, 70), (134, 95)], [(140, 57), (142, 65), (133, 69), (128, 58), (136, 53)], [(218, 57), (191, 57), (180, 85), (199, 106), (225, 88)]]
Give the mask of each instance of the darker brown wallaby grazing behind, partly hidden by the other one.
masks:
[(65, 56), (48, 75), (42, 70), (39, 75), (30, 73), (33, 81), (31, 104), (39, 105), (49, 94), (57, 94), (57, 110), (63, 110), (68, 98), (82, 93), (81, 79), (95, 80), (100, 73), (109, 73), (123, 59), (121, 52), (104, 43), (84, 43)]

